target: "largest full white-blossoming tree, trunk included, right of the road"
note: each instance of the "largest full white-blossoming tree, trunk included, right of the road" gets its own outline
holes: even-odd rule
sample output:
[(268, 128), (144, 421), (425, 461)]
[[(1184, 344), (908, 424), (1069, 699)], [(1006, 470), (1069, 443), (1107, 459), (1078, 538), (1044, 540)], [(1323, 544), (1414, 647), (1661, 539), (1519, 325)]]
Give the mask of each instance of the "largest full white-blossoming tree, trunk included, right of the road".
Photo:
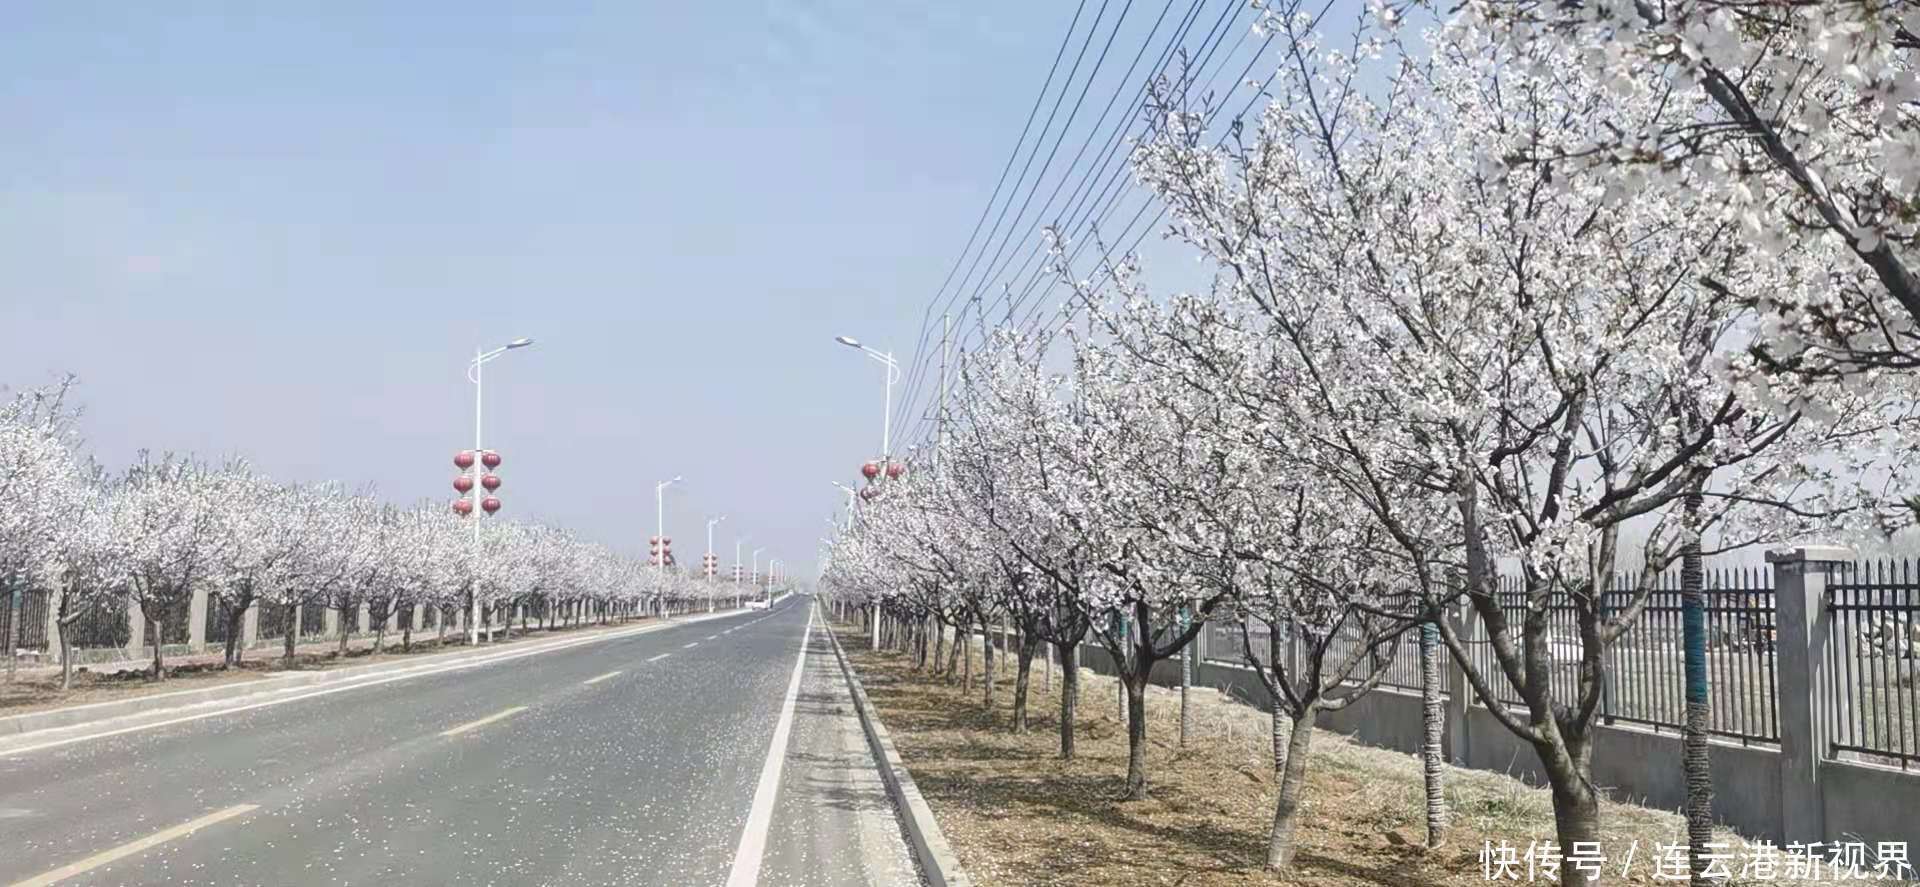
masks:
[[(1501, 67), (1442, 33), (1427, 60), (1402, 54), (1375, 98), (1356, 86), (1354, 60), (1377, 42), (1325, 52), (1304, 15), (1265, 23), (1286, 36), (1286, 67), (1258, 127), (1215, 138), (1204, 115), (1164, 104), (1140, 177), (1175, 234), (1219, 267), (1229, 303), (1284, 346), (1304, 384), (1273, 392), (1275, 424), (1400, 547), (1475, 691), (1538, 753), (1561, 845), (1597, 841), (1605, 647), (1632, 630), (1678, 543), (1709, 528), (1720, 547), (1784, 539), (1866, 515), (1897, 472), (1872, 463), (1895, 449), (1910, 405), (1862, 380), (1749, 372), (1764, 319), (1732, 294), (1807, 278), (1818, 250), (1755, 253), (1688, 196), (1626, 202), (1551, 165), (1486, 163), (1476, 146), (1490, 136), (1572, 138), (1620, 119), (1622, 100), (1572, 60)], [(1701, 516), (1682, 520), (1680, 499), (1709, 478)], [(1409, 520), (1444, 511), (1465, 539), (1457, 587), (1434, 549), (1448, 534)], [(1645, 566), (1630, 603), (1601, 612), (1628, 520), (1653, 522)], [(1523, 624), (1498, 601), (1501, 561), (1521, 570)], [(1492, 672), (1438, 618), (1461, 591), (1488, 630)], [(1572, 699), (1546, 678), (1551, 609), (1580, 624)]]

